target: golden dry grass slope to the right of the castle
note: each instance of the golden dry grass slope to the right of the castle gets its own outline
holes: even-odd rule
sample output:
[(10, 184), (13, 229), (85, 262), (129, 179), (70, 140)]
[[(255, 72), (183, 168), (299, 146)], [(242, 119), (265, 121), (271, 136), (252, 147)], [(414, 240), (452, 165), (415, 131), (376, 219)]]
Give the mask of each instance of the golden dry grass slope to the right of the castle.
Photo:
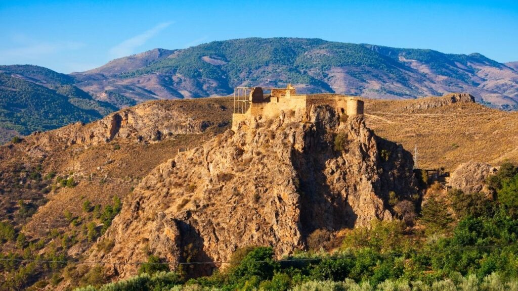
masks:
[(426, 99), (364, 100), (365, 113), (373, 115), (366, 115), (367, 126), (412, 153), (417, 145), (420, 168), (453, 170), (470, 160), (518, 162), (518, 112), (474, 103), (405, 109)]

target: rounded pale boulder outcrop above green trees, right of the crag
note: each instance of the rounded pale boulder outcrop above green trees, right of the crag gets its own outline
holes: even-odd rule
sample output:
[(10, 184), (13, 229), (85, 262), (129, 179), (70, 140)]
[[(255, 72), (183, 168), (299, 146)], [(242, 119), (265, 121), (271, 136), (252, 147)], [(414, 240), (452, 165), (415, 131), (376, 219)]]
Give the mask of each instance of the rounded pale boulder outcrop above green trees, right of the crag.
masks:
[(488, 176), (495, 174), (497, 169), (490, 164), (466, 162), (459, 165), (451, 174), (449, 185), (465, 193), (482, 192)]

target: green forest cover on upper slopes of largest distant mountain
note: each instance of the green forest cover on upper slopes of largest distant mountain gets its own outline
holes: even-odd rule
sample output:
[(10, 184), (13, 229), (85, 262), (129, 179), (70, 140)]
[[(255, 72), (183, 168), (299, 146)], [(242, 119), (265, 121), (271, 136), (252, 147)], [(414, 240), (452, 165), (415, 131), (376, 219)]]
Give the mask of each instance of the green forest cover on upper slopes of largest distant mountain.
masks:
[[(221, 65), (205, 62), (202, 58), (207, 56), (222, 61)], [(396, 49), (322, 39), (246, 38), (213, 41), (181, 50), (175, 53), (175, 57), (156, 61), (121, 76), (130, 78), (160, 73), (179, 74), (196, 80), (209, 78), (218, 80), (222, 93), (226, 94), (237, 85), (262, 83), (265, 80), (270, 80), (272, 86), (300, 83), (333, 92), (325, 82), (328, 78), (326, 71), (332, 67), (346, 67), (349, 68), (348, 74), (361, 81), (375, 74), (376, 78), (411, 86), (404, 74), (409, 68), (399, 60), (399, 56), (423, 62), (436, 74), (472, 85), (477, 84), (468, 75), (474, 73), (468, 63), (501, 66), (480, 54), (444, 54), (433, 50)], [(459, 68), (456, 63), (465, 68)], [(380, 72), (385, 76), (378, 76)]]

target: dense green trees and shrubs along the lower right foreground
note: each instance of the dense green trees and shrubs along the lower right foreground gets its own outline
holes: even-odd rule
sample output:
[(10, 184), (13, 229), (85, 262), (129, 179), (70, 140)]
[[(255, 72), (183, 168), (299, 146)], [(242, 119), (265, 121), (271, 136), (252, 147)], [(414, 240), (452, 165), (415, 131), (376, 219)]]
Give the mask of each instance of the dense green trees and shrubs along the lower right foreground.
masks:
[[(150, 256), (138, 277), (86, 290), (516, 290), (518, 169), (502, 165), (487, 184), (495, 198), (448, 193), (451, 208), (430, 198), (418, 224), (373, 221), (347, 233), (332, 253), (299, 252), (280, 260), (271, 247), (238, 249), (225, 269), (185, 278), (188, 265)], [(435, 219), (433, 219), (435, 218)], [(168, 281), (167, 281), (168, 280)], [(167, 282), (166, 282), (167, 281)]]

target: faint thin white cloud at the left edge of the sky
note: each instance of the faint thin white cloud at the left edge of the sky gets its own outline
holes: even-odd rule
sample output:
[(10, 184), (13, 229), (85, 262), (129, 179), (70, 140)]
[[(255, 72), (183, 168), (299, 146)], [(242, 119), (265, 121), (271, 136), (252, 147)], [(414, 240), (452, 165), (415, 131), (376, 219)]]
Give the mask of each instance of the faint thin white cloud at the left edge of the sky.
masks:
[(33, 42), (24, 47), (1, 50), (0, 62), (10, 62), (20, 57), (28, 60), (37, 60), (44, 55), (55, 54), (66, 50), (76, 50), (82, 47), (84, 47), (84, 43), (75, 41)]

